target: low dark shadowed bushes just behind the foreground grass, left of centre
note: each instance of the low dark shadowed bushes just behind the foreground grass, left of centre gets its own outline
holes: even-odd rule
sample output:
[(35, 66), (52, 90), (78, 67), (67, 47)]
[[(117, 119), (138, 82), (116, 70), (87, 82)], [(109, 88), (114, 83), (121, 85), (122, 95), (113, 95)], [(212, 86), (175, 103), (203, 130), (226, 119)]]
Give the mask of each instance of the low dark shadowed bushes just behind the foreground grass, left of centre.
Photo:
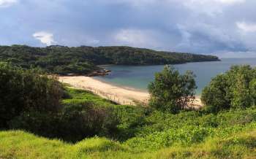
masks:
[(59, 113), (23, 112), (9, 125), (12, 129), (75, 142), (95, 135), (113, 137), (118, 133), (118, 123), (113, 109), (85, 102), (65, 106)]

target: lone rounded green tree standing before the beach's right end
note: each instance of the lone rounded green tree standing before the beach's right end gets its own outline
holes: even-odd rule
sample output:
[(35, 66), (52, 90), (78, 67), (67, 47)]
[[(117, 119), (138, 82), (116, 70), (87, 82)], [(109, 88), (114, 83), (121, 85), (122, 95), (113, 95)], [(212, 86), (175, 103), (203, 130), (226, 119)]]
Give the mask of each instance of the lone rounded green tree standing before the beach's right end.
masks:
[(177, 113), (195, 98), (195, 74), (187, 71), (179, 74), (171, 66), (155, 74), (154, 82), (148, 85), (151, 98), (149, 104), (157, 109)]

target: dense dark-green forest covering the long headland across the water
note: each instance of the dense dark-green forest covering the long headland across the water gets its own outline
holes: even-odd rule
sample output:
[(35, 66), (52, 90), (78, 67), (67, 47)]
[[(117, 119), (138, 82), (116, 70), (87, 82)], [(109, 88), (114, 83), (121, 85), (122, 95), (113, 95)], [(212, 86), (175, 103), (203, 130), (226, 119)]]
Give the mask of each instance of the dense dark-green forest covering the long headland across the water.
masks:
[(219, 61), (216, 56), (170, 53), (134, 47), (29, 47), (0, 46), (0, 61), (22, 68), (39, 68), (52, 74), (89, 74), (98, 65), (159, 65)]

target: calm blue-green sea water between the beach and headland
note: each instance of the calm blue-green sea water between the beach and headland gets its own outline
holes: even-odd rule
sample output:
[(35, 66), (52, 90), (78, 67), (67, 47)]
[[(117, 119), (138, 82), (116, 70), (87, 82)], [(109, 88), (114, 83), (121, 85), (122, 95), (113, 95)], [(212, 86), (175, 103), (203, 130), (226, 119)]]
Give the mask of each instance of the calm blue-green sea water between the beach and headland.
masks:
[[(185, 63), (173, 65), (181, 73), (191, 70), (195, 73), (197, 82), (197, 95), (208, 85), (212, 77), (224, 73), (232, 65), (249, 64), (256, 66), (256, 58), (225, 58), (222, 61)], [(95, 77), (98, 80), (110, 82), (115, 85), (147, 90), (148, 83), (154, 80), (154, 74), (162, 71), (163, 65), (159, 66), (105, 66), (112, 72), (105, 77)]]

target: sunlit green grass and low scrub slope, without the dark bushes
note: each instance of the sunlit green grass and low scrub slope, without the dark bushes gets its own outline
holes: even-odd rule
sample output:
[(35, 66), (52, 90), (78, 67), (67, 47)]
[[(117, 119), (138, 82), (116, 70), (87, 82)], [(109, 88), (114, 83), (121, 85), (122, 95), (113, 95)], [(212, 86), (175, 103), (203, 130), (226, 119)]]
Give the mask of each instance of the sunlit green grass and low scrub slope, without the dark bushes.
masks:
[(113, 108), (120, 120), (116, 134), (71, 144), (24, 131), (1, 131), (0, 158), (256, 157), (255, 107), (216, 115), (197, 111), (173, 115), (118, 106), (85, 90), (67, 88), (67, 94), (62, 101), (66, 106), (92, 102), (98, 108)]

